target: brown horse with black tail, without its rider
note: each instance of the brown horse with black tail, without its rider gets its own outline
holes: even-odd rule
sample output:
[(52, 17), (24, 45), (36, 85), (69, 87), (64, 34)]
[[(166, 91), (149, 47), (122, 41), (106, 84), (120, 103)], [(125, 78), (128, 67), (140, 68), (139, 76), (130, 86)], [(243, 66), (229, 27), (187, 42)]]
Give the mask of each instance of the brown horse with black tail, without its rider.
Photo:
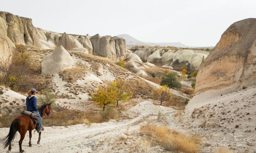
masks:
[[(45, 104), (41, 106), (39, 109), (39, 114), (42, 118), (44, 116), (50, 115), (50, 104)], [(14, 140), (16, 132), (19, 131), (20, 134), (20, 140), (19, 140), (19, 152), (22, 153), (24, 150), (22, 150), (21, 145), (22, 141), (25, 138), (25, 135), (27, 131), (29, 131), (29, 146), (31, 147), (31, 137), (32, 137), (32, 130), (35, 129), (37, 124), (34, 124), (33, 120), (28, 115), (19, 115), (17, 116), (14, 121), (11, 123), (9, 134), (3, 139), (5, 140), (4, 148), (6, 148), (9, 145), (8, 151), (11, 152), (11, 142)], [(37, 144), (40, 144), (41, 139), (41, 132), (39, 133)]]

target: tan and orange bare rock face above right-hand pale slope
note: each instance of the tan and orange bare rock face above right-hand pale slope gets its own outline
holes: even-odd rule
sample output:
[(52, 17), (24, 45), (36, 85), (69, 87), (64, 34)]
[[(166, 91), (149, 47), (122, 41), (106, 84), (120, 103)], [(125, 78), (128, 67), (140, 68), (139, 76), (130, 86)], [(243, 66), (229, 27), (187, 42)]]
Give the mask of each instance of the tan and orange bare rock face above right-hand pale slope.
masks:
[(196, 93), (256, 84), (256, 19), (233, 23), (200, 66)]

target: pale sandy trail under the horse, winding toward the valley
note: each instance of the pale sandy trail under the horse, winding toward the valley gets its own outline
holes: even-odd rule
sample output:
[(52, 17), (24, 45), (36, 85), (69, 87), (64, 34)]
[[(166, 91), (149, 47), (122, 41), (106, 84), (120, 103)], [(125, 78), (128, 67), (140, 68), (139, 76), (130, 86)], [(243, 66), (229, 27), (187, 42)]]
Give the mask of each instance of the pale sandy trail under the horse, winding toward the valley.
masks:
[[(169, 111), (172, 114), (176, 111)], [(168, 115), (169, 116), (169, 115)], [(143, 119), (155, 119), (157, 116), (147, 114), (139, 115), (133, 119), (120, 122), (110, 120), (105, 123), (93, 123), (90, 126), (79, 124), (72, 126), (45, 127), (41, 135), (41, 144), (38, 145), (38, 134), (32, 132), (32, 147), (29, 147), (29, 133), (27, 132), (23, 140), (22, 149), (26, 152), (92, 152), (93, 148), (101, 147), (106, 138), (118, 138), (121, 133), (138, 130), (146, 121)], [(0, 129), (0, 138), (4, 138), (9, 132), (9, 128)], [(12, 152), (19, 150), (19, 134), (14, 139)], [(1, 144), (2, 145), (2, 142)], [(103, 148), (103, 146), (102, 146)], [(0, 153), (5, 153), (7, 149), (0, 149)]]

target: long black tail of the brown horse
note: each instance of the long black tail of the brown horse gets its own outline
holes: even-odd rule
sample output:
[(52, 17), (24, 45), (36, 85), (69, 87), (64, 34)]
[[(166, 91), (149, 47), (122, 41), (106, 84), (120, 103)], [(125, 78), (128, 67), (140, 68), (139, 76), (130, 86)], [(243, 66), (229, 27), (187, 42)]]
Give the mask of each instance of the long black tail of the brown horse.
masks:
[(5, 140), (3, 148), (6, 148), (15, 138), (18, 131), (19, 119), (14, 119), (11, 123), (9, 134), (2, 140)]

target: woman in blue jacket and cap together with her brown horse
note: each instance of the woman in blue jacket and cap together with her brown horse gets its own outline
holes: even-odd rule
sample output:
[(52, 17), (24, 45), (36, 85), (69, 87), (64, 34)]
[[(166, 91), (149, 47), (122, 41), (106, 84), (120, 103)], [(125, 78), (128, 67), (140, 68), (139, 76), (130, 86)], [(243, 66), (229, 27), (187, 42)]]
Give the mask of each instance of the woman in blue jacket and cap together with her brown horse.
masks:
[[(42, 116), (49, 116), (50, 115), (50, 105), (51, 104), (45, 104), (41, 106), (39, 109), (37, 109), (37, 99), (35, 96), (35, 93), (37, 92), (36, 89), (31, 89), (29, 91), (28, 97), (26, 99), (26, 105), (27, 105), (27, 110), (32, 111), (35, 114), (39, 115), (39, 113), (36, 110), (40, 111), (40, 124), (37, 128), (37, 132), (39, 133), (38, 141), (37, 144), (40, 144), (40, 139), (41, 139), (41, 125), (42, 125)], [(33, 96), (32, 96), (33, 95)], [(11, 126), (10, 126), (10, 131), (9, 134), (2, 140), (5, 140), (4, 142), (4, 148), (9, 146), (8, 148), (8, 153), (11, 152), (11, 142), (15, 138), (15, 134), (18, 131), (20, 133), (20, 140), (19, 140), (19, 152), (22, 153), (24, 150), (22, 150), (22, 141), (25, 138), (25, 135), (27, 131), (29, 131), (29, 146), (31, 147), (31, 137), (32, 137), (32, 130), (35, 129), (37, 124), (34, 124), (33, 120), (30, 118), (29, 115), (19, 115), (17, 116), (14, 121), (12, 121)]]

